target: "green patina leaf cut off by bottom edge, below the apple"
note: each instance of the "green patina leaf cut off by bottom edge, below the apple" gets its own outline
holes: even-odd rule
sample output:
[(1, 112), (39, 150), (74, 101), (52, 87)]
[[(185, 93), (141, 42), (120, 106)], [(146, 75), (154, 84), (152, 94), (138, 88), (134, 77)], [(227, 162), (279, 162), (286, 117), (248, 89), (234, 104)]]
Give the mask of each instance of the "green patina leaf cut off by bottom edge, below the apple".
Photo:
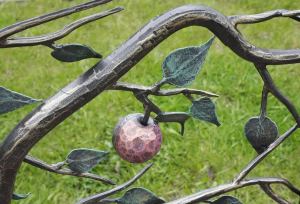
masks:
[(118, 204), (161, 204), (162, 199), (153, 192), (142, 187), (133, 187), (127, 190), (118, 200)]

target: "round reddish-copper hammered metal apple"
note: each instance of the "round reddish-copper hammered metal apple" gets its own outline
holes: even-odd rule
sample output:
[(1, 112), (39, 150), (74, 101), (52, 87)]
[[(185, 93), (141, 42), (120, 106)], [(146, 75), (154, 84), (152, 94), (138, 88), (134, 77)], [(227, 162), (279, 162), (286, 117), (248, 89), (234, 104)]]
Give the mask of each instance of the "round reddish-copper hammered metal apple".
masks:
[(150, 117), (147, 126), (140, 123), (142, 113), (123, 117), (115, 125), (112, 143), (117, 154), (131, 163), (143, 163), (153, 158), (162, 143), (159, 125)]

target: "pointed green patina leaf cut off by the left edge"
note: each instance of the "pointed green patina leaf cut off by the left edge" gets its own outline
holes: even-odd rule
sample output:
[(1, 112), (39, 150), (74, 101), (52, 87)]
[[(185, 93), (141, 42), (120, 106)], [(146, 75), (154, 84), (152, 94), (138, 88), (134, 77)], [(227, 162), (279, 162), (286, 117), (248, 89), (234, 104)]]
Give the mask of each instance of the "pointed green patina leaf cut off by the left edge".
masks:
[(0, 114), (10, 112), (25, 105), (41, 102), (41, 99), (33, 99), (21, 93), (14, 92), (0, 86)]

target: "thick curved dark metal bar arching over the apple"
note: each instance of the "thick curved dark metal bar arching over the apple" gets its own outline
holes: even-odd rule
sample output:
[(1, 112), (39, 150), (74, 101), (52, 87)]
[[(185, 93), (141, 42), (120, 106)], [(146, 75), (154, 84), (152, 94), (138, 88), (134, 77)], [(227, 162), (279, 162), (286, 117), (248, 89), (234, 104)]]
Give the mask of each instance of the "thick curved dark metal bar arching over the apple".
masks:
[(28, 151), (46, 133), (115, 83), (172, 33), (198, 25), (211, 30), (245, 60), (265, 64), (300, 62), (299, 49), (262, 49), (247, 42), (229, 19), (204, 5), (183, 5), (154, 17), (106, 58), (41, 103), (0, 143), (0, 200), (10, 203), (12, 186)]

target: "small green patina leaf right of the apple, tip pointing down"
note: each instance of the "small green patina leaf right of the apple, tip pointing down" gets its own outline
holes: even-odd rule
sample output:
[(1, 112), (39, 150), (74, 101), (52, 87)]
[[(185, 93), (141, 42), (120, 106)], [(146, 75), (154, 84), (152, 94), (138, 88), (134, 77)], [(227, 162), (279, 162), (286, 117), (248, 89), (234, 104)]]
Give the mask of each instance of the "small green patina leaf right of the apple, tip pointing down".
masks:
[(201, 97), (192, 102), (189, 107), (189, 114), (195, 119), (207, 121), (220, 126), (217, 119), (215, 104), (209, 97)]

